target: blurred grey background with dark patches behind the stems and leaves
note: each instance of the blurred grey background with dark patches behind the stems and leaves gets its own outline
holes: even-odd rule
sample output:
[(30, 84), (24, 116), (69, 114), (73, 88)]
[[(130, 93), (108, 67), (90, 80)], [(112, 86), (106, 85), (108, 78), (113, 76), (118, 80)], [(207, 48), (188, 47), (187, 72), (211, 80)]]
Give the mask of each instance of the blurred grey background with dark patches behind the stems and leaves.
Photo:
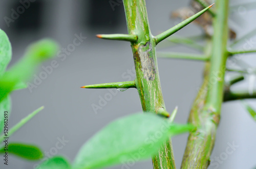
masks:
[[(23, 1), (21, 1), (23, 2)], [(137, 90), (124, 92), (106, 89), (81, 89), (81, 86), (105, 82), (129, 81), (135, 78), (132, 50), (129, 42), (97, 39), (96, 34), (127, 33), (123, 4), (110, 5), (109, 0), (44, 1), (31, 0), (25, 11), (12, 18), (20, 1), (0, 2), (0, 28), (10, 38), (13, 48), (11, 65), (19, 60), (26, 47), (41, 38), (50, 37), (59, 42), (57, 67), (47, 77), (41, 79), (42, 67), (34, 74), (31, 83), (35, 86), (12, 93), (12, 111), (9, 126), (13, 126), (30, 112), (44, 105), (30, 122), (10, 137), (12, 142), (38, 145), (46, 155), (65, 155), (72, 161), (79, 148), (94, 133), (109, 122), (141, 111)], [(230, 5), (253, 1), (231, 0)], [(181, 19), (170, 18), (172, 11), (189, 5), (188, 0), (146, 1), (148, 19), (153, 35), (157, 35)], [(255, 8), (256, 9), (256, 8)], [(22, 10), (22, 9), (19, 9)], [(255, 29), (256, 11), (245, 7), (230, 11), (230, 26), (241, 37)], [(8, 17), (8, 18), (7, 18)], [(202, 30), (189, 24), (176, 33), (187, 37), (200, 35)], [(70, 48), (77, 36), (87, 37), (80, 44)], [(251, 37), (256, 42), (255, 37)], [(77, 41), (79, 42), (79, 41)], [(255, 44), (254, 44), (255, 45)], [(167, 48), (163, 42), (158, 51), (196, 52), (184, 46)], [(255, 46), (256, 48), (256, 46)], [(255, 54), (246, 54), (243, 60), (256, 67)], [(51, 65), (51, 61), (42, 66)], [(179, 106), (175, 122), (186, 123), (191, 104), (202, 83), (203, 62), (175, 59), (158, 59), (158, 67), (165, 105), (168, 111)], [(130, 73), (129, 73), (130, 72)], [(248, 86), (248, 79), (238, 87)], [(247, 83), (246, 83), (247, 82)], [(254, 84), (254, 83), (252, 83)], [(254, 85), (255, 87), (255, 85)], [(107, 96), (108, 95), (108, 96)], [(106, 100), (105, 97), (108, 99)], [(255, 100), (248, 100), (254, 108)], [(256, 123), (245, 111), (240, 101), (231, 101), (222, 106), (221, 122), (212, 161), (220, 158), (217, 165), (209, 168), (252, 168), (256, 165)], [(173, 137), (173, 147), (177, 168), (180, 167), (185, 150), (187, 135)], [(60, 149), (56, 143), (65, 139)], [(229, 145), (238, 145), (233, 153), (224, 156)], [(55, 151), (57, 150), (57, 151)], [(225, 157), (225, 158), (224, 158)], [(0, 162), (0, 168), (34, 168), (40, 161), (26, 161), (15, 156), (9, 157), (9, 165)], [(109, 168), (125, 168), (121, 165)], [(135, 163), (130, 168), (153, 168), (151, 159)]]

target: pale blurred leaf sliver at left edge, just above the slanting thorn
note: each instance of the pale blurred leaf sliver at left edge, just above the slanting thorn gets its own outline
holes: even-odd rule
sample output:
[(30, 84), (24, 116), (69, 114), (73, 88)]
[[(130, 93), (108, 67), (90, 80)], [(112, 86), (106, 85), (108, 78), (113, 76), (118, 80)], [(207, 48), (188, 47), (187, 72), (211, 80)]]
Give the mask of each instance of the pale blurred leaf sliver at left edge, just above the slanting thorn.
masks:
[(0, 133), (4, 130), (5, 111), (8, 111), (9, 117), (11, 111), (11, 98), (9, 95), (0, 102)]

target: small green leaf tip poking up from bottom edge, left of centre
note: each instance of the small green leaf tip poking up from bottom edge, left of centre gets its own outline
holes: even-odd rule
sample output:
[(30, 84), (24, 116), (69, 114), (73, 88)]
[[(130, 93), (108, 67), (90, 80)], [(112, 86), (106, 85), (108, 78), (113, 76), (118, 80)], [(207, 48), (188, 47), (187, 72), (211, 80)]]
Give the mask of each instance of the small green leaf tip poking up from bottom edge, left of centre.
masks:
[(41, 163), (36, 169), (71, 169), (71, 165), (65, 157), (55, 156)]

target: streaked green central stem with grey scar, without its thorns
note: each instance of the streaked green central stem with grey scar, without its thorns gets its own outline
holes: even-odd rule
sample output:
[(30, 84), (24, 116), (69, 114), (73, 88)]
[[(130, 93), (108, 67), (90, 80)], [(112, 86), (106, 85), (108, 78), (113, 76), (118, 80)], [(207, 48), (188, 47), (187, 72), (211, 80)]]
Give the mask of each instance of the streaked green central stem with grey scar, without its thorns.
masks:
[[(160, 79), (158, 74), (156, 43), (147, 20), (144, 0), (123, 1), (128, 33), (137, 35), (137, 42), (132, 42), (136, 70), (136, 88), (143, 111), (156, 112), (165, 110)], [(171, 141), (165, 143), (159, 153), (153, 157), (154, 168), (176, 168)]]

